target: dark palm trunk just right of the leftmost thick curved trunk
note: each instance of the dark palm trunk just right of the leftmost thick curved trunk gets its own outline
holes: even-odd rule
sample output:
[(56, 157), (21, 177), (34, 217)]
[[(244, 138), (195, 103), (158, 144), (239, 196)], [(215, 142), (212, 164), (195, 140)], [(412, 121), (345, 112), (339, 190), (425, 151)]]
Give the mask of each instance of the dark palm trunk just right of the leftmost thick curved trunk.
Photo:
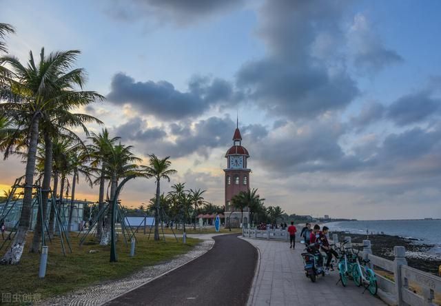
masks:
[[(32, 247), (30, 248), (30, 253), (38, 253), (40, 251), (40, 242), (41, 235), (44, 235), (41, 232), (41, 213), (43, 213), (43, 223), (46, 222), (46, 210), (48, 208), (48, 197), (50, 190), (50, 178), (52, 176), (52, 139), (48, 134), (44, 135), (44, 144), (45, 144), (45, 163), (43, 170), (43, 184), (41, 186), (41, 207), (43, 207), (43, 212), (38, 210), (37, 212), (37, 225), (34, 227), (34, 238), (32, 240)], [(44, 226), (44, 224), (43, 224)]]

